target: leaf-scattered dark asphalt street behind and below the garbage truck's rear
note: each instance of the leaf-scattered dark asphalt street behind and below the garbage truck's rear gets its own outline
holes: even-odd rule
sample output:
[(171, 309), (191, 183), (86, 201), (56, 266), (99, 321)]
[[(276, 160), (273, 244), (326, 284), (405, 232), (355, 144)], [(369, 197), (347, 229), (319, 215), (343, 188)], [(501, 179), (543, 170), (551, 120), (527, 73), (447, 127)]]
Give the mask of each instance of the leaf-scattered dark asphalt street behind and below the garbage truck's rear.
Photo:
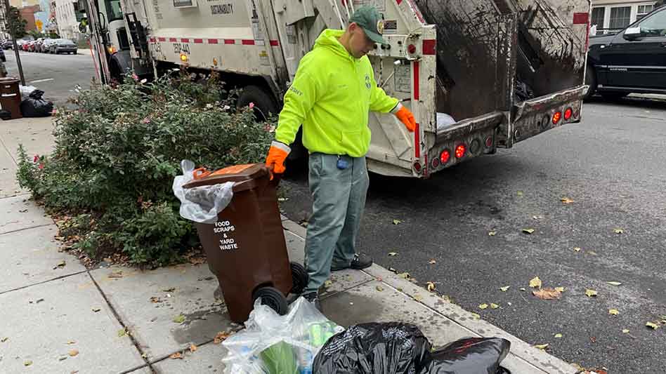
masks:
[[(666, 326), (646, 327), (666, 319), (665, 149), (666, 101), (589, 102), (582, 123), (429, 180), (371, 175), (358, 251), (565, 361), (666, 373)], [(307, 220), (307, 173), (281, 183), (285, 215)], [(536, 298), (535, 276), (561, 299)]]

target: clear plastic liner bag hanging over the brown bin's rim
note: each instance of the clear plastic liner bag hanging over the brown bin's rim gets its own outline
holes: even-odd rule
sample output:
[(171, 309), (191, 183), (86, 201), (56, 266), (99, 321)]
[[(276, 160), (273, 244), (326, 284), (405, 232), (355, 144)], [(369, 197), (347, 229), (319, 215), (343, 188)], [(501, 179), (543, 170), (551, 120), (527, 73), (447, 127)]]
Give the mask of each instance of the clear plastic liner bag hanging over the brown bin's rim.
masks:
[(234, 182), (217, 185), (183, 188), (194, 179), (192, 172), (195, 164), (190, 160), (181, 161), (183, 175), (174, 178), (172, 189), (181, 201), (181, 217), (199, 223), (215, 223), (217, 215), (223, 211), (233, 198)]

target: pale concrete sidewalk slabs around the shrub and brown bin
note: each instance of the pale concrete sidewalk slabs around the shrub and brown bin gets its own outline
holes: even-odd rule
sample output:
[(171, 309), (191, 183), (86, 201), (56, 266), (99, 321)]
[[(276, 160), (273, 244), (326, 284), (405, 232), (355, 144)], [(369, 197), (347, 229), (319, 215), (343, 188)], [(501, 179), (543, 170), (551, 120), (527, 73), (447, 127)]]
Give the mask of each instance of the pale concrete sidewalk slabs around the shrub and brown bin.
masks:
[[(49, 152), (51, 129), (50, 119), (0, 122), (0, 253), (6, 259), (0, 264), (0, 373), (221, 373), (224, 349), (214, 337), (240, 326), (214, 300), (217, 281), (207, 265), (87, 270), (60, 251), (53, 220), (14, 176), (18, 143), (31, 156)], [(282, 222), (289, 257), (302, 262), (306, 229)], [(501, 336), (511, 340), (503, 366), (514, 374), (576, 373), (378, 265), (337, 272), (331, 281), (322, 305), (341, 326), (410, 322), (436, 347), (467, 336)], [(175, 322), (178, 316), (184, 320)], [(195, 352), (169, 359), (191, 344)]]

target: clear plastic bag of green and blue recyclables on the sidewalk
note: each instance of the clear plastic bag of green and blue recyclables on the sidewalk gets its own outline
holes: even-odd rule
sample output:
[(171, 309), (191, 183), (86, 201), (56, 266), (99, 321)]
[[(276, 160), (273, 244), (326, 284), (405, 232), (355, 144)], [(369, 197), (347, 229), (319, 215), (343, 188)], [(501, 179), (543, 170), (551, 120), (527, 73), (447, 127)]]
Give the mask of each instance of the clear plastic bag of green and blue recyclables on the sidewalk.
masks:
[(245, 329), (222, 343), (224, 373), (311, 374), (321, 347), (343, 330), (302, 297), (284, 316), (256, 300)]

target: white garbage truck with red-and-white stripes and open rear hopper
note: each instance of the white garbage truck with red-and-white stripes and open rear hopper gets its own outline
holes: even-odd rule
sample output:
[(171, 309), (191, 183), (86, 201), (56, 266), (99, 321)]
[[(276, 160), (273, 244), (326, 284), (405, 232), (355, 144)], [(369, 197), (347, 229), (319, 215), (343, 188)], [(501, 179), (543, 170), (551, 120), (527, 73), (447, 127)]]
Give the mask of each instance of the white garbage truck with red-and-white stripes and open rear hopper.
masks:
[[(367, 165), (433, 173), (581, 121), (589, 0), (79, 0), (98, 76), (216, 71), (238, 105), (278, 113), (299, 60), (355, 8), (381, 14), (377, 84), (409, 107), (409, 133), (370, 113)], [(294, 148), (294, 147), (292, 147)]]

